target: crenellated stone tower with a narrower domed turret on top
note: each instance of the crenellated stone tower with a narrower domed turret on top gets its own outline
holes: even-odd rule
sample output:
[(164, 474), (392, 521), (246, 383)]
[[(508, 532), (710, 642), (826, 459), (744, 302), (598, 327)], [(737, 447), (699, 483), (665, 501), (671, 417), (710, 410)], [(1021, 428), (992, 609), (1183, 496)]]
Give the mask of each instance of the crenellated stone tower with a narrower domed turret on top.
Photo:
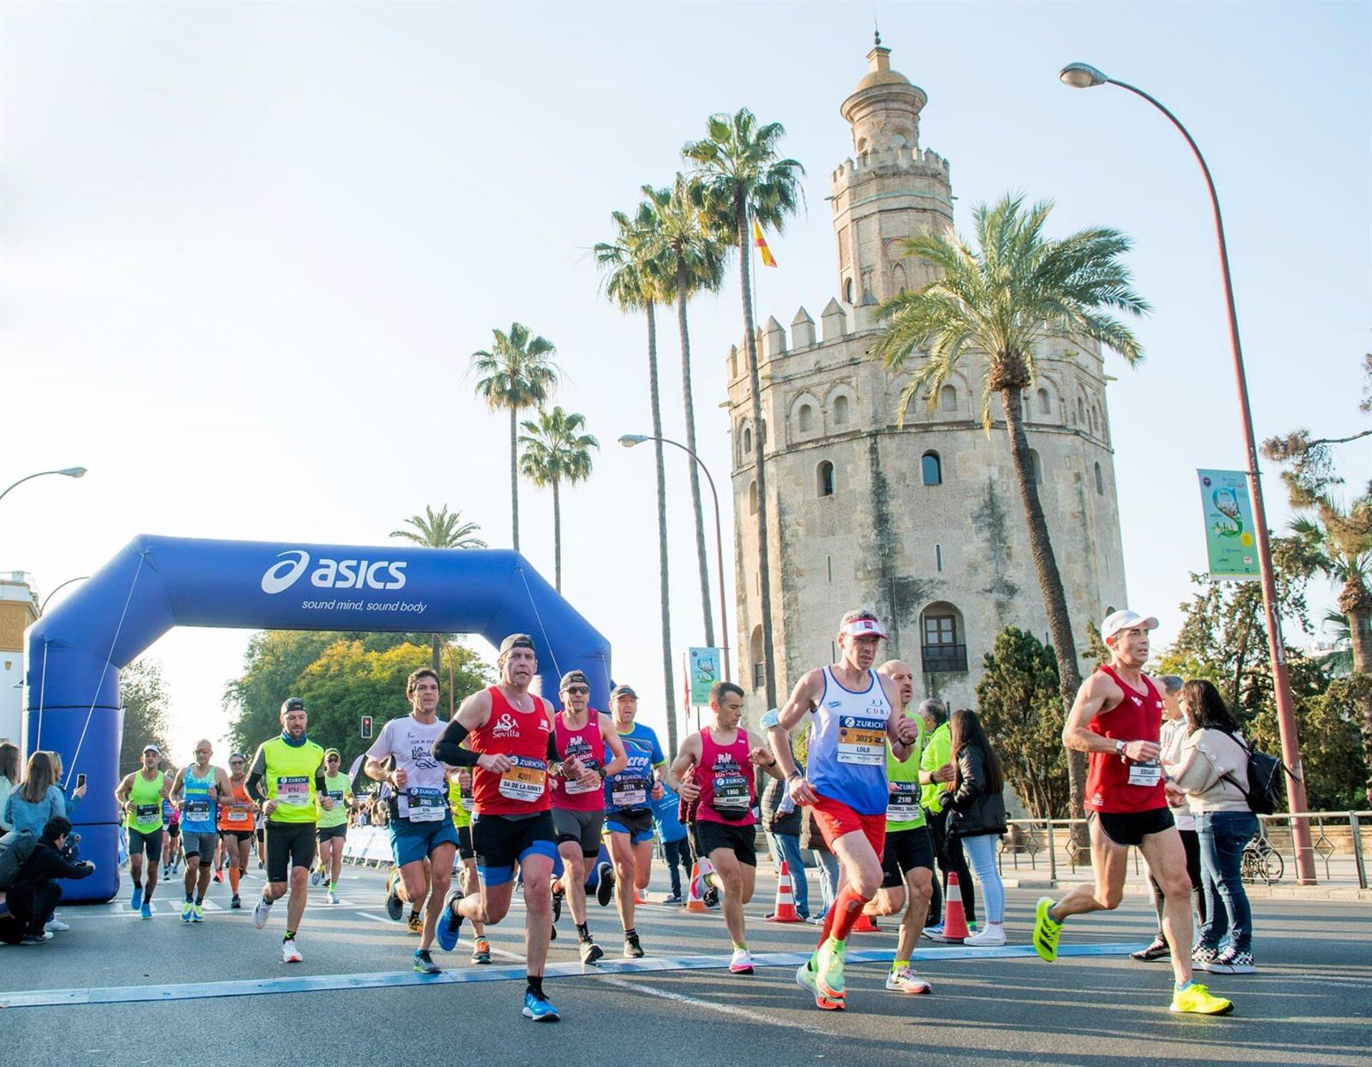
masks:
[[(922, 89), (890, 69), (890, 49), (842, 101), (853, 158), (831, 174), (838, 298), (815, 320), (801, 307), (788, 331), (759, 328), (761, 427), (749, 413), (746, 358), (729, 355), (737, 650), (749, 708), (761, 706), (761, 627), (753, 433), (760, 432), (771, 509), (770, 560), (777, 684), (834, 656), (840, 614), (874, 608), (925, 694), (973, 704), (982, 657), (1006, 625), (1047, 640), (999, 403), (988, 435), (980, 368), (959, 366), (934, 411), (896, 411), (904, 376), (870, 352), (873, 310), (918, 289), (929, 267), (900, 255), (900, 239), (952, 228), (947, 160), (919, 147)], [(1006, 176), (1014, 185), (1014, 176)], [(1026, 392), (1029, 443), (1078, 643), (1087, 625), (1125, 605), (1124, 555), (1099, 348), (1055, 343), (1039, 352)]]

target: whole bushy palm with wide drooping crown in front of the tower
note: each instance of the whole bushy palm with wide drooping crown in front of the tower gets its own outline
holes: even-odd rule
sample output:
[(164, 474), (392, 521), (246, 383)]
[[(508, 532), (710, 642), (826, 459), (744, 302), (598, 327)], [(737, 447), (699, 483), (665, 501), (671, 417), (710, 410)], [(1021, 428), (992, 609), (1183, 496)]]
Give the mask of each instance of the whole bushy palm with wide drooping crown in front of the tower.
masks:
[[(1007, 195), (973, 211), (977, 247), (952, 233), (908, 237), (903, 255), (927, 259), (940, 276), (919, 292), (900, 293), (878, 307), (878, 320), (885, 326), (875, 355), (892, 372), (919, 359), (900, 394), (901, 421), (916, 396), (933, 410), (938, 391), (963, 358), (982, 362), (981, 421), (989, 432), (992, 398), (999, 394), (1029, 525), (1029, 550), (1058, 658), (1062, 699), (1070, 708), (1081, 675), (1062, 575), (1025, 436), (1022, 394), (1037, 379), (1036, 350), (1044, 341), (1085, 337), (1109, 346), (1131, 366), (1137, 365), (1143, 347), (1110, 311), (1142, 315), (1148, 304), (1131, 288), (1131, 273), (1121, 262), (1132, 247), (1129, 237), (1091, 228), (1052, 240), (1043, 232), (1051, 211), (1051, 202), (1025, 211), (1024, 197)], [(1085, 771), (1085, 753), (1069, 753), (1073, 817), (1081, 816)]]

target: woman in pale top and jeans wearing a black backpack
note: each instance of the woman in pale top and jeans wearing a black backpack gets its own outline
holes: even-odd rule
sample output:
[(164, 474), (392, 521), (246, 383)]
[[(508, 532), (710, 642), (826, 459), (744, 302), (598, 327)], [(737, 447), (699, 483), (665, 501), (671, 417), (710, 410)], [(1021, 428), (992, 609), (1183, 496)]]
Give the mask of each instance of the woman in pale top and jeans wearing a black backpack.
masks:
[(1220, 691), (1205, 679), (1183, 684), (1179, 702), (1190, 732), (1168, 789), (1183, 790), (1195, 816), (1206, 897), (1191, 959), (1202, 971), (1253, 974), (1253, 909), (1240, 874), (1243, 846), (1258, 832), (1249, 806), (1249, 746)]

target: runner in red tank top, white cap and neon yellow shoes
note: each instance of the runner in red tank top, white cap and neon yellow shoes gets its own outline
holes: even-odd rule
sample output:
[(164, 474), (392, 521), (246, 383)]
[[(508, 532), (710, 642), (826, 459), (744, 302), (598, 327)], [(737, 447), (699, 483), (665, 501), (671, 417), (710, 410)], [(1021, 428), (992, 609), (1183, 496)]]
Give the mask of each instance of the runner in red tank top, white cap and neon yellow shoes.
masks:
[(1054, 904), (1039, 901), (1034, 949), (1044, 960), (1058, 956), (1058, 935), (1069, 915), (1113, 911), (1124, 897), (1129, 846), (1137, 846), (1162, 887), (1162, 930), (1172, 950), (1176, 986), (1172, 1011), (1225, 1015), (1233, 1004), (1211, 996), (1191, 978), (1191, 876), (1187, 853), (1168, 808), (1158, 763), (1162, 698), (1143, 673), (1148, 631), (1157, 619), (1124, 610), (1100, 624), (1110, 664), (1081, 683), (1062, 742), (1091, 760), (1084, 805), (1091, 812), (1093, 885), (1080, 885)]

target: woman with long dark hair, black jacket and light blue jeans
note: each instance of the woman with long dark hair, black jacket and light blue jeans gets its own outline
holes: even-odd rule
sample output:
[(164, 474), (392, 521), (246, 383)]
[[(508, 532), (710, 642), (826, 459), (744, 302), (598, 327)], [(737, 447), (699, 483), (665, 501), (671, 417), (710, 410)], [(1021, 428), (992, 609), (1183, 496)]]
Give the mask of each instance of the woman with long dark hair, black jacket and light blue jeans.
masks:
[[(1000, 758), (991, 747), (977, 713), (959, 708), (949, 724), (955, 769), (952, 789), (943, 794), (943, 808), (948, 812), (948, 841), (956, 842), (971, 861), (986, 913), (985, 928), (965, 938), (963, 944), (1004, 945), (1006, 887), (1000, 880), (996, 852), (1006, 832), (1006, 780)], [(958, 880), (962, 882), (960, 875)]]

